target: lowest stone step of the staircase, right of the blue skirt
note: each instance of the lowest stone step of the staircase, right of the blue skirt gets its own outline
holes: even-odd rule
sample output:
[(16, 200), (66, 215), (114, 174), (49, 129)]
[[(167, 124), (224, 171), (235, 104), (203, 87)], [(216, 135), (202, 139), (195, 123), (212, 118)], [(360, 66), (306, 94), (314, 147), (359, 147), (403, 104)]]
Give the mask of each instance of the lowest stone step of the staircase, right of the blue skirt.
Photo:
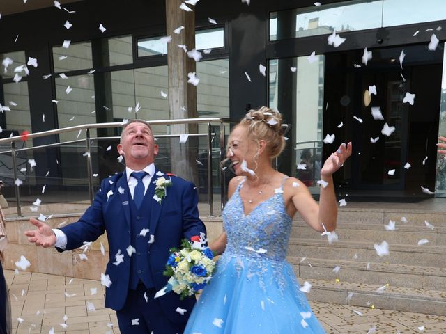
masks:
[[(333, 282), (331, 280), (308, 280), (312, 289), (307, 294), (309, 301), (369, 306), (405, 312), (446, 315), (446, 292), (430, 289), (413, 289), (389, 285), (377, 292), (382, 285)], [(302, 285), (304, 280), (300, 282)], [(352, 294), (351, 299), (347, 297)]]

